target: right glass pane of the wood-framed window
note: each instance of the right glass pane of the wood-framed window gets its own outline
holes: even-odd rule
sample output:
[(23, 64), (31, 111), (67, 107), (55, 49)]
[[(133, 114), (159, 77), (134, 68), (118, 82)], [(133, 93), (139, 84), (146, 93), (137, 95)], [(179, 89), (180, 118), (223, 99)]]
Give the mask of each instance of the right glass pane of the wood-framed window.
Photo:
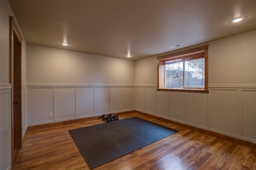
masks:
[(185, 62), (185, 88), (204, 88), (204, 59)]

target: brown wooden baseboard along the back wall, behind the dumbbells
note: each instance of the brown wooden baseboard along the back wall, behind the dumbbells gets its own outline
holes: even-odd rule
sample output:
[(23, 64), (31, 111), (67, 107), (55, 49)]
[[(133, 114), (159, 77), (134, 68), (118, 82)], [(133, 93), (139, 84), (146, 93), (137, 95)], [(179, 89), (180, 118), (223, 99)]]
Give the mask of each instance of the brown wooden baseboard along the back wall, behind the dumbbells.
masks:
[[(119, 112), (119, 113), (114, 113), (114, 114), (119, 116), (119, 115), (126, 115), (129, 113), (134, 113), (134, 110), (124, 111), (124, 112)], [(73, 120), (66, 120), (66, 121), (60, 121), (60, 122), (54, 122), (54, 123), (46, 123), (46, 124), (42, 124), (42, 125), (28, 126), (27, 131), (33, 131), (36, 129), (44, 129), (47, 127), (55, 127), (55, 126), (59, 126), (59, 125), (69, 125), (72, 123), (80, 123), (80, 122), (96, 120), (96, 119), (101, 119), (101, 116), (85, 117), (85, 118), (81, 118), (81, 119), (73, 119)]]

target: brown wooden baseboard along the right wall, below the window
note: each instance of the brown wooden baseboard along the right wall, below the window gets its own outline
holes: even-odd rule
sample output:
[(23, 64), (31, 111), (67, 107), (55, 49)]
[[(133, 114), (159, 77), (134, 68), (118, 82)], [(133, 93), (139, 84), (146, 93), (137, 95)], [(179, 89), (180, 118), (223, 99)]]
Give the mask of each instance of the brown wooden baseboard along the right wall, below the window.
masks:
[(164, 121), (166, 123), (171, 123), (172, 125), (177, 125), (179, 127), (185, 128), (185, 129), (191, 129), (192, 131), (200, 132), (200, 133), (203, 133), (205, 135), (210, 135), (212, 137), (217, 137), (217, 138), (220, 138), (220, 139), (224, 139), (226, 141), (229, 141), (229, 142), (232, 142), (232, 143), (235, 143), (235, 144), (238, 144), (238, 145), (242, 145), (242, 146), (249, 147), (249, 148), (256, 148), (256, 143), (252, 143), (252, 142), (249, 142), (249, 141), (244, 141), (242, 139), (237, 139), (237, 138), (230, 137), (230, 136), (227, 136), (227, 135), (222, 135), (220, 133), (216, 133), (216, 132), (209, 131), (209, 130), (206, 130), (206, 129), (201, 129), (199, 127), (194, 127), (194, 126), (191, 126), (191, 125), (186, 125), (184, 123), (179, 123), (179, 122), (172, 121), (172, 120), (169, 120), (169, 119), (165, 119), (165, 118), (162, 118), (162, 117), (158, 117), (158, 116), (155, 116), (155, 115), (150, 115), (150, 114), (144, 113), (142, 111), (135, 110), (134, 112), (138, 113), (140, 115), (144, 115), (144, 116), (151, 117), (151, 118), (154, 118), (154, 119), (157, 119), (157, 120), (160, 120), (160, 121)]

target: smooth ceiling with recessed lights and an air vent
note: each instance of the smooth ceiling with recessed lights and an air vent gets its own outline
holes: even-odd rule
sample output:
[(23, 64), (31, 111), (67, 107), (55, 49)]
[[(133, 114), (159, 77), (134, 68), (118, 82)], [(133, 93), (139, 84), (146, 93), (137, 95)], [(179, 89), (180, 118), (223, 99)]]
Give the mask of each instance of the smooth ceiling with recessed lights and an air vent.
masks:
[[(256, 0), (9, 2), (28, 44), (130, 60), (256, 29)], [(229, 23), (238, 16), (246, 20)]]

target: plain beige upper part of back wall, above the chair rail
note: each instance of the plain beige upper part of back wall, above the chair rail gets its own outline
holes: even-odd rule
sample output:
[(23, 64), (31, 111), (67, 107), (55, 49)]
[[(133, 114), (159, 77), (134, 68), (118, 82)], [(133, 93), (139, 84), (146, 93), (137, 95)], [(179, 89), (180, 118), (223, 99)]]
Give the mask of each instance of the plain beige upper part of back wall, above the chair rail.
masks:
[(27, 45), (28, 84), (134, 84), (134, 61)]

